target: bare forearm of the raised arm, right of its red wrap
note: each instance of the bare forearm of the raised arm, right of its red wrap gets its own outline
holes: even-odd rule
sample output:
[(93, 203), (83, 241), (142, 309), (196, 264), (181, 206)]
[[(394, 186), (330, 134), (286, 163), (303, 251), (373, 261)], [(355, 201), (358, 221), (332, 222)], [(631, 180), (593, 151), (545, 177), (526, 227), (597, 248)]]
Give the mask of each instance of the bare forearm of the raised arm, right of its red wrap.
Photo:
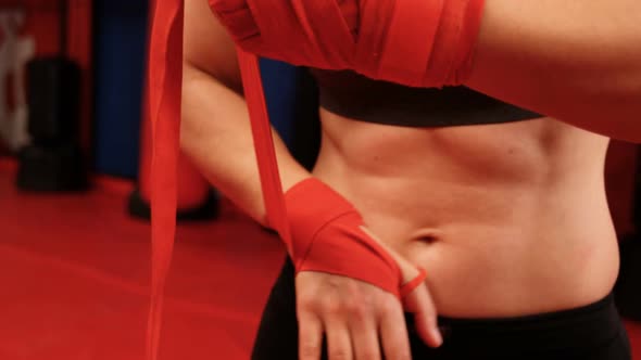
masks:
[(486, 1), (467, 86), (641, 140), (641, 1)]

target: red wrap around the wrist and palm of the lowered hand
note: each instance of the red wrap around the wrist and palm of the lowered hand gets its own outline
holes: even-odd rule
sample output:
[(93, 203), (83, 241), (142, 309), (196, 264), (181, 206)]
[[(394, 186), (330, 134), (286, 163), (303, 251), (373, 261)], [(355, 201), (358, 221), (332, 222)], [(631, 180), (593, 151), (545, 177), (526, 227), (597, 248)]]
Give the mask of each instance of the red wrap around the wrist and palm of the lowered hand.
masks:
[(359, 211), (316, 179), (303, 180), (285, 195), (291, 240), (289, 254), (298, 271), (320, 271), (376, 285), (400, 296), (397, 262), (361, 227)]

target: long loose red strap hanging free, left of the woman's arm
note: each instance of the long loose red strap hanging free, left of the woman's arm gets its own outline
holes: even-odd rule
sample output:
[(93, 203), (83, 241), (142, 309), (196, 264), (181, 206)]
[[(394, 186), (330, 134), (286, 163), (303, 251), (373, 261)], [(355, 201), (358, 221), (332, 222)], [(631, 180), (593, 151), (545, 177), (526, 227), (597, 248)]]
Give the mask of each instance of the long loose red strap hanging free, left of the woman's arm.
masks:
[(183, 0), (154, 1), (148, 66), (151, 157), (151, 301), (147, 359), (158, 359), (163, 293), (176, 232), (183, 83)]

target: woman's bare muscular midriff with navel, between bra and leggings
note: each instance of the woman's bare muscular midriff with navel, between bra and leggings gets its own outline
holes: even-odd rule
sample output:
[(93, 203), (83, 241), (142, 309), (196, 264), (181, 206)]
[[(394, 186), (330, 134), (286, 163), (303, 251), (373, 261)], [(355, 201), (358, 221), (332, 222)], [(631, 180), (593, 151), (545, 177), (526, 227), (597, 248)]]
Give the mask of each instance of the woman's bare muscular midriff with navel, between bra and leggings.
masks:
[(400, 127), (320, 115), (315, 176), (427, 270), (439, 313), (536, 313), (612, 290), (607, 139), (550, 118)]

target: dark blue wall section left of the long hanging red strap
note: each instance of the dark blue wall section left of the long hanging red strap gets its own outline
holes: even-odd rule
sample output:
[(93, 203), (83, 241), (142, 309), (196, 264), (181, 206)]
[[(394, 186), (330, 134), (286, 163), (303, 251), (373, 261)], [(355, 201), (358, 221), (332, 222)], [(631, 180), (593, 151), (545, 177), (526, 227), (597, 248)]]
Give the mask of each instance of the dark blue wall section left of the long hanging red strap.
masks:
[(138, 143), (147, 1), (95, 1), (95, 166), (101, 173), (133, 178)]

